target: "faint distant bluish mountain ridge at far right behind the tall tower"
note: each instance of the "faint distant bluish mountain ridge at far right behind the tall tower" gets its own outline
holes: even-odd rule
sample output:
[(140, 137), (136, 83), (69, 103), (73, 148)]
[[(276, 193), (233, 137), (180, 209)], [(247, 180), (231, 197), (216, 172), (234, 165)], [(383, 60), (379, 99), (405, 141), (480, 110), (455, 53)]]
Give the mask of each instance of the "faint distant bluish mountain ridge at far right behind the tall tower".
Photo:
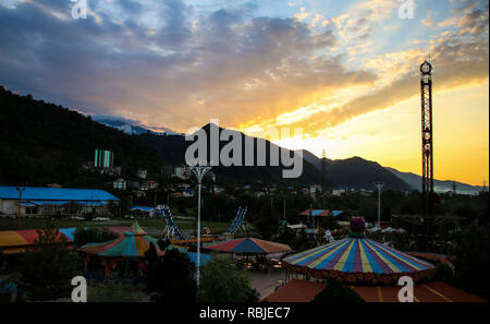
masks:
[[(401, 172), (396, 169), (384, 167), (387, 170), (393, 172), (396, 177), (405, 181), (412, 189), (421, 189), (421, 177), (412, 172)], [(482, 190), (480, 185), (470, 185), (454, 181), (456, 185), (456, 193), (476, 194)], [(433, 190), (438, 193), (445, 193), (453, 190), (452, 180), (433, 180)]]

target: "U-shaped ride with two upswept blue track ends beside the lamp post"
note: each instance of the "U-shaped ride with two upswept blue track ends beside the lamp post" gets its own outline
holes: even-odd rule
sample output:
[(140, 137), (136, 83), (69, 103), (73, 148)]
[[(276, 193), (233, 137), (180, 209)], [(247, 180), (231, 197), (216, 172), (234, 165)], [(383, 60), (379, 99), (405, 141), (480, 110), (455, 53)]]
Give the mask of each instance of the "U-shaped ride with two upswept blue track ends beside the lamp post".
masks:
[[(230, 228), (223, 233), (223, 239), (232, 239), (240, 230), (246, 231), (245, 214), (247, 207), (238, 207), (235, 217), (233, 218)], [(159, 205), (156, 207), (156, 214), (162, 217), (166, 221), (166, 228), (160, 235), (163, 239), (169, 239), (172, 244), (194, 244), (197, 242), (197, 238), (191, 238), (186, 236), (175, 224), (170, 208), (166, 205)], [(216, 239), (210, 236), (210, 231), (207, 230), (207, 235), (200, 238), (201, 242), (212, 242)]]

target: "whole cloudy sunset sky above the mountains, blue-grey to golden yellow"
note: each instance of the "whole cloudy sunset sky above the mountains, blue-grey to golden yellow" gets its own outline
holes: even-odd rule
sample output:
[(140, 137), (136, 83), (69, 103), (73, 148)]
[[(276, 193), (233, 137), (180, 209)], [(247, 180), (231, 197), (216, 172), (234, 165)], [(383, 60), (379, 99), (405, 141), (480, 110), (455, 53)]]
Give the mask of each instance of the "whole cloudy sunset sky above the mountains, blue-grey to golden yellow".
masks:
[(0, 0), (0, 84), (157, 131), (287, 129), (275, 143), (420, 175), (427, 59), (434, 178), (488, 183), (488, 1), (86, 3)]

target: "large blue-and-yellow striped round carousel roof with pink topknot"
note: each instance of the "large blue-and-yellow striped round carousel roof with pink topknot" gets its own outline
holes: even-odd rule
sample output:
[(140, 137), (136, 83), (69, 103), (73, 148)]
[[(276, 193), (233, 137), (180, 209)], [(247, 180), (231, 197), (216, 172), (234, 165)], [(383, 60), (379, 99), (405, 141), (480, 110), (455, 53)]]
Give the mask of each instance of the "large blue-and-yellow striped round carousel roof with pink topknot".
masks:
[(350, 283), (393, 284), (401, 276), (419, 280), (434, 273), (430, 263), (366, 238), (345, 238), (292, 254), (283, 264), (293, 273)]

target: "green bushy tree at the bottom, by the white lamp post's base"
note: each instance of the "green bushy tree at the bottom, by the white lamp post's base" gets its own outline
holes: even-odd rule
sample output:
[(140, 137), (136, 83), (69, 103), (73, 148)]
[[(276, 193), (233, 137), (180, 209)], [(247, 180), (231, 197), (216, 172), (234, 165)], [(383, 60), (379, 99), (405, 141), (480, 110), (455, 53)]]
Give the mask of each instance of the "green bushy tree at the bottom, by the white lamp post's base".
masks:
[(196, 300), (200, 302), (254, 302), (258, 293), (250, 288), (244, 271), (231, 262), (213, 257), (200, 272), (200, 287)]

